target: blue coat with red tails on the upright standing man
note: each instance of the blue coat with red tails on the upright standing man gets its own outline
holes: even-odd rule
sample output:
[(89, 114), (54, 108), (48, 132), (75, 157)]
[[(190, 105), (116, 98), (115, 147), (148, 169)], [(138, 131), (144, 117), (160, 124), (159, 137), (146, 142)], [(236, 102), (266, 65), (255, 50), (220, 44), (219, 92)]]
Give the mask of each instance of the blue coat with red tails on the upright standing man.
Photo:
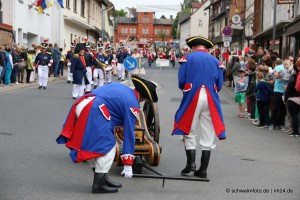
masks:
[(183, 99), (175, 115), (172, 134), (190, 133), (199, 92), (202, 85), (205, 85), (214, 131), (219, 139), (225, 139), (225, 125), (218, 95), (223, 84), (220, 61), (204, 51), (188, 54), (181, 61), (183, 62), (178, 72), (178, 80), (179, 88), (183, 90)]

